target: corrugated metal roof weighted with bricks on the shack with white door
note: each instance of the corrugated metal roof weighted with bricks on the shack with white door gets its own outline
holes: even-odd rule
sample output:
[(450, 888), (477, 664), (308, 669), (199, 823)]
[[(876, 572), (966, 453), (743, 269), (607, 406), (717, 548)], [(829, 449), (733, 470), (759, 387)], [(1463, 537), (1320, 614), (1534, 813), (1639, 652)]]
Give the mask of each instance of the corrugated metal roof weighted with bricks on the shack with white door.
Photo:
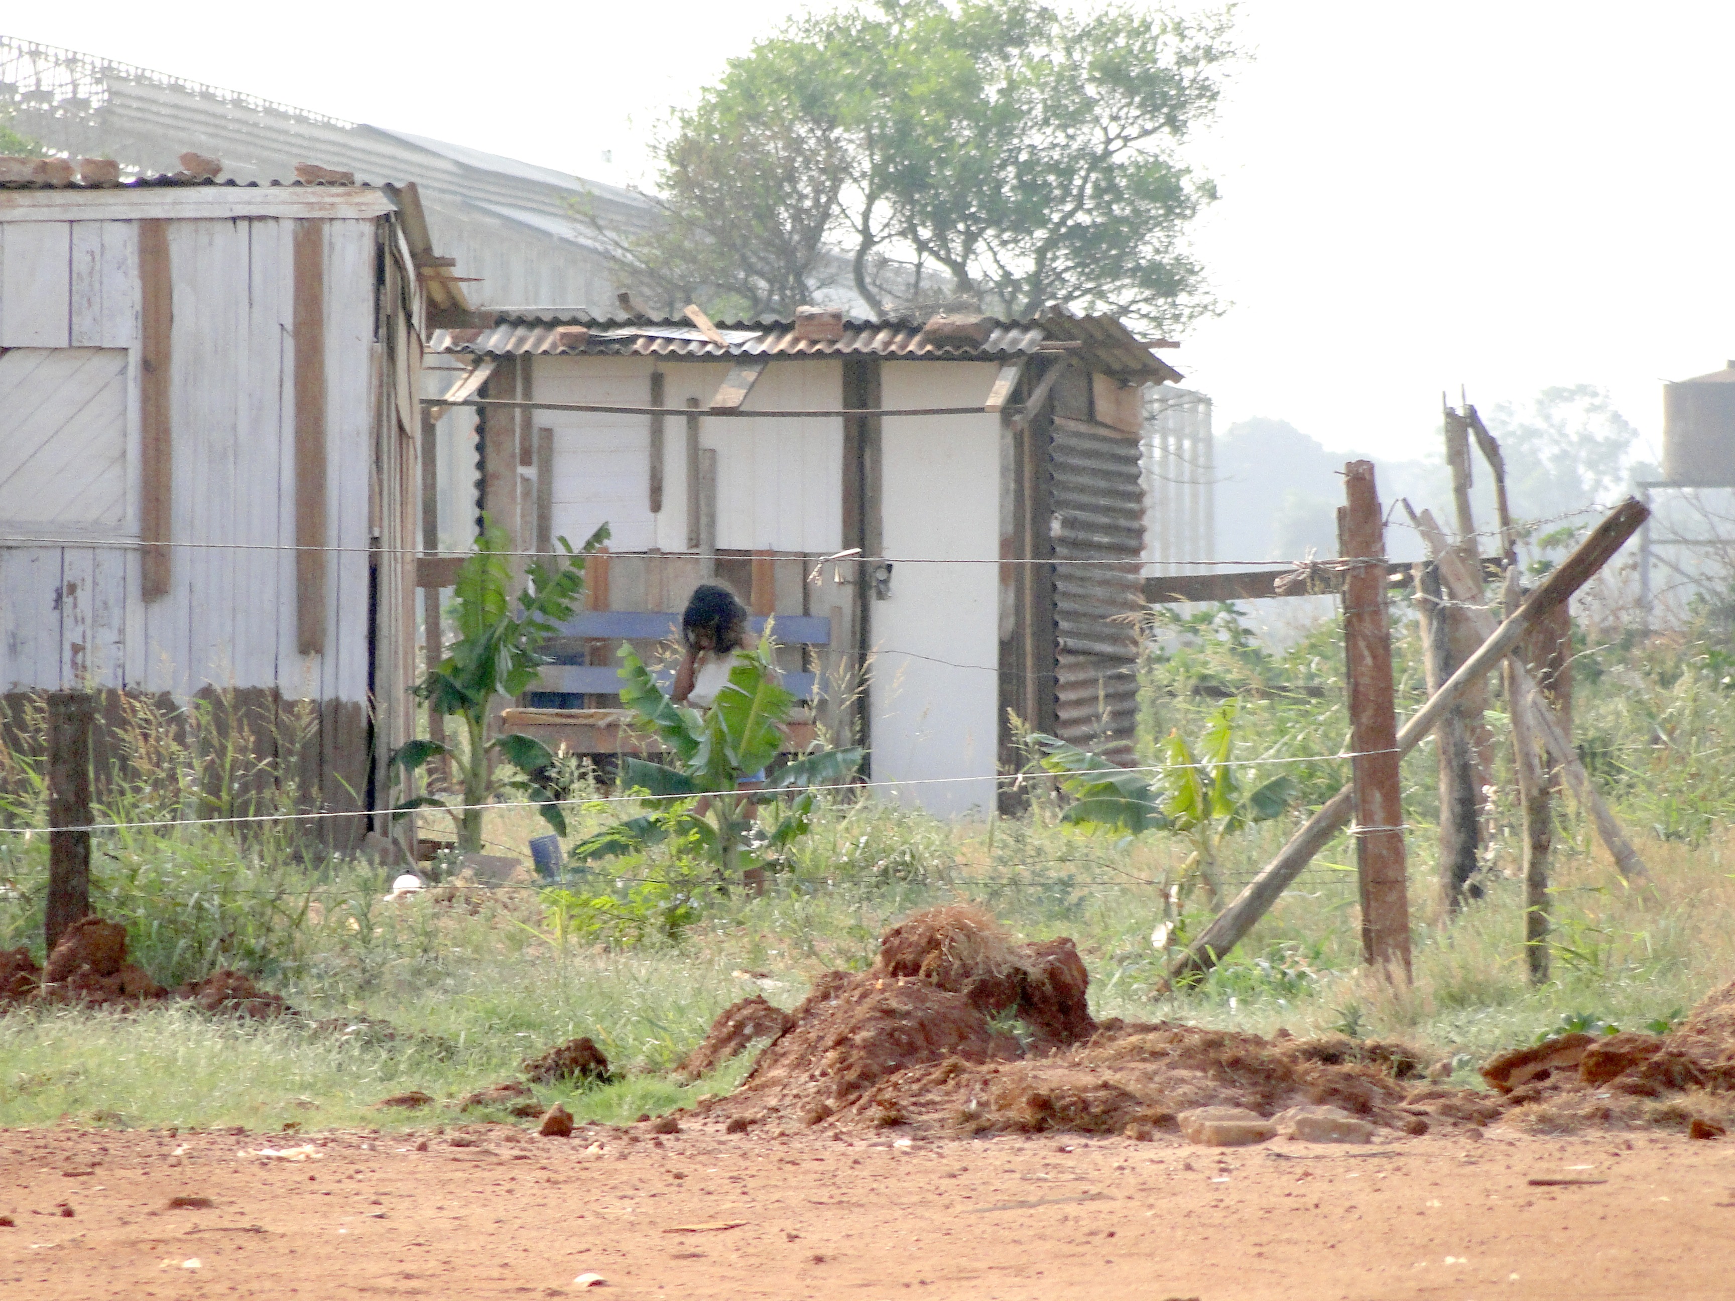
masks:
[[(574, 328), (583, 326), (583, 333)], [(435, 330), (434, 352), (474, 356), (569, 356), (569, 357), (739, 357), (739, 356), (873, 356), (925, 361), (1006, 359), (1038, 352), (1050, 340), (1083, 343), (1091, 369), (1162, 383), (1180, 371), (1157, 361), (1149, 349), (1112, 316), (1044, 316), (1036, 321), (984, 319), (982, 342), (968, 338), (932, 340), (918, 321), (845, 321), (840, 338), (800, 338), (793, 321), (718, 321), (718, 345), (692, 323), (599, 321), (574, 312), (555, 317), (543, 312), (501, 314), (496, 324), (477, 330)]]

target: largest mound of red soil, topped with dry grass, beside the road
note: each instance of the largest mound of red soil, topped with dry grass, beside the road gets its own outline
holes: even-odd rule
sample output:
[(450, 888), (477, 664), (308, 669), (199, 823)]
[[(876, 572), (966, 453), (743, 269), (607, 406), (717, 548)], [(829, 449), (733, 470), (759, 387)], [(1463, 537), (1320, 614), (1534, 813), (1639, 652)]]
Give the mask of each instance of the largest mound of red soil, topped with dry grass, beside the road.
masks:
[(885, 933), (871, 970), (822, 975), (708, 1110), (734, 1133), (776, 1119), (1147, 1138), (1211, 1105), (1270, 1117), (1324, 1103), (1409, 1133), (1457, 1119), (1409, 1102), (1421, 1056), (1398, 1044), (1098, 1025), (1088, 987), (1072, 940), (1020, 945), (977, 909), (921, 912)]

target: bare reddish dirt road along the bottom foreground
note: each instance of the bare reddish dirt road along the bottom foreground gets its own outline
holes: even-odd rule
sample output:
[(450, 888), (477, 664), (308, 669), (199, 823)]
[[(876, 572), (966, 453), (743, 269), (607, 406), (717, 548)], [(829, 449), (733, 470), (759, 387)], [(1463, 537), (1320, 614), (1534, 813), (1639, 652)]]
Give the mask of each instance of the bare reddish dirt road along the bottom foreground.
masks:
[(0, 1296), (1735, 1296), (1735, 1140), (422, 1138), (0, 1133)]

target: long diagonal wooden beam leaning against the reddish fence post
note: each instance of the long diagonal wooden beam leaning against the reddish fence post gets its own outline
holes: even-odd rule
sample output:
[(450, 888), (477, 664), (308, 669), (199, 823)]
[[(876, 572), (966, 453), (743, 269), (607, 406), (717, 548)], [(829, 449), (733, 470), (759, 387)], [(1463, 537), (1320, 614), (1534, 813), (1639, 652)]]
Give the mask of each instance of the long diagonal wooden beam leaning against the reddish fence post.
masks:
[[(1494, 670), (1496, 664), (1511, 654), (1513, 647), (1516, 647), (1523, 638), (1525, 628), (1570, 598), (1581, 586), (1589, 583), (1596, 571), (1620, 550), (1627, 538), (1638, 533), (1638, 527), (1648, 517), (1650, 510), (1640, 505), (1636, 498), (1627, 498), (1615, 507), (1601, 520), (1601, 524), (1598, 524), (1589, 536), (1579, 543), (1577, 550), (1574, 550), (1558, 569), (1548, 574), (1542, 586), (1525, 598), (1525, 602), (1518, 607), (1518, 612), (1496, 628), (1492, 635), (1476, 649), (1476, 652), (1466, 659), (1456, 673), (1452, 673), (1440, 690), (1430, 696), (1426, 704), (1423, 704), (1421, 709), (1417, 709), (1411, 720), (1404, 723), (1397, 735), (1398, 756), (1402, 758), (1414, 749), (1416, 744), (1438, 725), (1440, 716), (1452, 708), (1452, 704), (1471, 683), (1480, 682), (1489, 671)], [(1549, 748), (1553, 748), (1553, 741), (1549, 741)], [(1187, 952), (1175, 961), (1169, 968), (1171, 978), (1180, 980), (1194, 973), (1202, 975), (1216, 966), (1216, 963), (1228, 954), (1230, 949), (1241, 944), (1242, 937), (1253, 930), (1254, 923), (1265, 916), (1272, 904), (1277, 902), (1279, 895), (1282, 895), (1289, 883), (1301, 874), (1301, 869), (1308, 866), (1315, 853), (1331, 843), (1331, 838), (1336, 836), (1348, 820), (1350, 794), (1352, 789), (1345, 786), (1331, 800), (1320, 805), (1319, 812), (1315, 812), (1313, 817), (1310, 817), (1301, 829), (1289, 838), (1289, 843), (1279, 850), (1277, 857), (1272, 859), (1239, 895), (1235, 895), (1234, 902), (1230, 902), (1230, 905), (1204, 928), (1199, 938), (1188, 945)], [(1643, 866), (1640, 871), (1643, 871)]]

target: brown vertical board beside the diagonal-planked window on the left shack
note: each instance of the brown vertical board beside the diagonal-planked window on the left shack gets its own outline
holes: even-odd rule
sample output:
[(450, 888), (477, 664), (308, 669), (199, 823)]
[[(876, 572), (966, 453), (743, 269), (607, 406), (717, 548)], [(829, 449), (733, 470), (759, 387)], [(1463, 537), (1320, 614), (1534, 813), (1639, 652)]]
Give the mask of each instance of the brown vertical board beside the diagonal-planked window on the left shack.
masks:
[(168, 595), (174, 559), (175, 435), (170, 416), (174, 278), (168, 222), (139, 224), (139, 538), (144, 598)]

